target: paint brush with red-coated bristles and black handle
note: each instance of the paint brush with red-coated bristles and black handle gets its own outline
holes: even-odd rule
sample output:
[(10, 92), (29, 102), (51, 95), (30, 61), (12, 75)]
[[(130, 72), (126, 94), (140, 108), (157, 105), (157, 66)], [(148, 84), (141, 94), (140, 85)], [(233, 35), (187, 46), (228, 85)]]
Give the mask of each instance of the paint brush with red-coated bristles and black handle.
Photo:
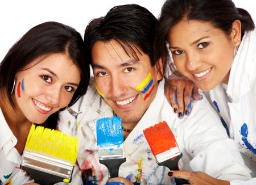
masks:
[[(151, 152), (159, 166), (179, 170), (178, 162), (182, 157), (176, 139), (166, 121), (155, 124), (143, 131)], [(189, 184), (188, 180), (175, 178), (176, 184)]]

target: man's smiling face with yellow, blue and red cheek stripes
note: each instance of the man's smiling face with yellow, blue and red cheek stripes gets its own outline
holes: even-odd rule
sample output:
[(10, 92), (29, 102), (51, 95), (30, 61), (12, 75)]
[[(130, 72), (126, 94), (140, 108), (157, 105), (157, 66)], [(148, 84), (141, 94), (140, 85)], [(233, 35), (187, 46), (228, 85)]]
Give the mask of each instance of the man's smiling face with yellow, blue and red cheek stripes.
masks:
[[(92, 47), (92, 66), (98, 91), (122, 118), (123, 128), (131, 131), (155, 98), (162, 75), (141, 49), (131, 46), (138, 57), (133, 58), (122, 46), (127, 47), (114, 39), (96, 41)], [(125, 138), (128, 134), (124, 132)]]

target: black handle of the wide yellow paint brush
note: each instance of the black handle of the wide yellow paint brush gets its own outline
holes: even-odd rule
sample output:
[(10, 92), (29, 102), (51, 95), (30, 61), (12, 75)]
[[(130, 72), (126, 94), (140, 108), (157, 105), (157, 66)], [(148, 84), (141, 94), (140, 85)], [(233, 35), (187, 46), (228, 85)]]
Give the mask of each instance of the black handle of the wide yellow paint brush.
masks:
[[(46, 173), (44, 171), (30, 169), (29, 167), (26, 167), (26, 166), (20, 165), (20, 169), (27, 171), (27, 173), (30, 174), (32, 176), (32, 178), (35, 180), (35, 182), (38, 184), (53, 185), (58, 182), (63, 182), (63, 180), (64, 180), (63, 177), (60, 177), (57, 175), (52, 175), (52, 174)], [(71, 182), (71, 179), (69, 182)]]

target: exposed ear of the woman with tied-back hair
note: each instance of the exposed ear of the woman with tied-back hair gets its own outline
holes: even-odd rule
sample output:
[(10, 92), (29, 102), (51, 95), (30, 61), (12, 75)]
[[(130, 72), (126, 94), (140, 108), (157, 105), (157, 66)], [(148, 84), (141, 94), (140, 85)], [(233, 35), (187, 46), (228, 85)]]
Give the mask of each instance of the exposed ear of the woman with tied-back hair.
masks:
[(238, 46), (241, 43), (241, 22), (240, 20), (235, 20), (232, 23), (232, 29), (230, 32), (230, 39), (234, 46)]

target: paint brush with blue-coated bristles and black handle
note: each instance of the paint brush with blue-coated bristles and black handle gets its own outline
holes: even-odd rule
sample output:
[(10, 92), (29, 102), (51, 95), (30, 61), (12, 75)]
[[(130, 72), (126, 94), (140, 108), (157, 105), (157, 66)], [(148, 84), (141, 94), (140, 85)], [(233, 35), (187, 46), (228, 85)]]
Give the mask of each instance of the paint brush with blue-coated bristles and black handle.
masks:
[(100, 163), (108, 168), (110, 178), (117, 177), (120, 165), (126, 161), (120, 117), (97, 120), (97, 145)]

